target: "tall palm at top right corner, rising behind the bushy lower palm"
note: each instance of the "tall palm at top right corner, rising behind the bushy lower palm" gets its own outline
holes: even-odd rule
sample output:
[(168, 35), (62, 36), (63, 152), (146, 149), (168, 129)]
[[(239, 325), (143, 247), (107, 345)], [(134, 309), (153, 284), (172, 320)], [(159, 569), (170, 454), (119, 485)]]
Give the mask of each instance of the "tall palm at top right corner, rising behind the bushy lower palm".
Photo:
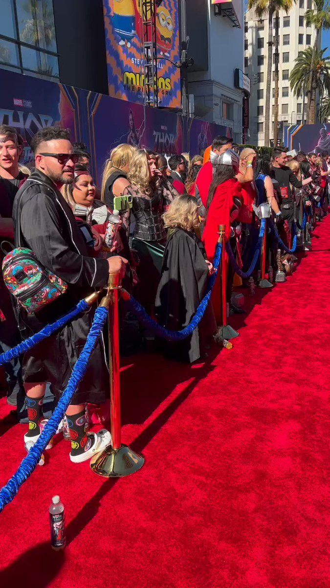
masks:
[[(319, 47), (319, 36), (322, 29), (330, 28), (330, 2), (329, 0), (314, 0), (315, 8), (310, 8), (305, 12), (305, 22), (307, 26), (313, 26), (316, 29), (316, 36), (314, 42), (314, 49)], [(316, 55), (316, 53), (315, 53)], [(315, 85), (312, 75), (314, 67), (311, 67), (308, 77), (307, 86), (307, 124), (315, 124), (316, 108), (315, 100), (312, 102), (312, 86)], [(304, 96), (305, 101), (305, 96)]]

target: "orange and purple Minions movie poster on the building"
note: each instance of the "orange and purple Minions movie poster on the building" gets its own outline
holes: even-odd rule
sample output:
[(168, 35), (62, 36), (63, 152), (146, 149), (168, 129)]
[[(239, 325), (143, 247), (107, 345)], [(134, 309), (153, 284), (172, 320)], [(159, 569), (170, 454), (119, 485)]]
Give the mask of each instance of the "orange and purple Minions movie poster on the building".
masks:
[[(142, 0), (103, 0), (109, 95), (144, 103)], [(178, 0), (156, 8), (159, 106), (181, 108)]]

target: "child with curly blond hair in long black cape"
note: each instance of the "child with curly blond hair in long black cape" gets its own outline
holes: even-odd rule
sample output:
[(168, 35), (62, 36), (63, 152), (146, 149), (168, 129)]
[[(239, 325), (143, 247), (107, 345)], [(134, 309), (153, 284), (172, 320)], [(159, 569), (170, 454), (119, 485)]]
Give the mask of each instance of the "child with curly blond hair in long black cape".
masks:
[[(155, 313), (160, 325), (177, 331), (184, 329), (195, 315), (206, 294), (213, 267), (206, 258), (203, 243), (196, 236), (200, 217), (194, 196), (183, 194), (174, 200), (164, 214), (164, 223), (169, 232)], [(203, 356), (207, 337), (216, 329), (210, 302), (193, 335), (176, 343), (162, 341), (163, 351), (172, 359), (192, 363)]]

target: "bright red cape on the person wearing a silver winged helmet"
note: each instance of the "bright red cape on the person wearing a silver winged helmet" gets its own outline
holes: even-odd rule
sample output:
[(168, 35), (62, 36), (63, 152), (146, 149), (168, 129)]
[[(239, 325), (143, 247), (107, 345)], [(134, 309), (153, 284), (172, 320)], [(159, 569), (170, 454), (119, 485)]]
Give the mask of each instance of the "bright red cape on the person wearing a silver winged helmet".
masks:
[(227, 240), (230, 237), (230, 212), (234, 206), (234, 196), (243, 201), (241, 186), (235, 178), (223, 182), (215, 190), (203, 232), (206, 255), (210, 261), (214, 259), (219, 238), (219, 225), (225, 225)]

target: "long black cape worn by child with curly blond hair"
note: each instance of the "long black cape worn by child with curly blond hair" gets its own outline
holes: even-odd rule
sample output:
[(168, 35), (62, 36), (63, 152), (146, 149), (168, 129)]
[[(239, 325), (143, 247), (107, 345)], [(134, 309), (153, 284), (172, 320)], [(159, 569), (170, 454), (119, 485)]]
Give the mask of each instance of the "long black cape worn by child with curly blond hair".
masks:
[[(203, 245), (196, 235), (176, 229), (164, 251), (161, 279), (156, 295), (155, 312), (160, 325), (170, 330), (186, 327), (203, 299), (208, 280), (208, 267)], [(173, 359), (192, 363), (200, 358), (200, 335), (216, 330), (213, 309), (208, 305), (199, 329), (188, 339), (162, 343), (164, 353)]]

